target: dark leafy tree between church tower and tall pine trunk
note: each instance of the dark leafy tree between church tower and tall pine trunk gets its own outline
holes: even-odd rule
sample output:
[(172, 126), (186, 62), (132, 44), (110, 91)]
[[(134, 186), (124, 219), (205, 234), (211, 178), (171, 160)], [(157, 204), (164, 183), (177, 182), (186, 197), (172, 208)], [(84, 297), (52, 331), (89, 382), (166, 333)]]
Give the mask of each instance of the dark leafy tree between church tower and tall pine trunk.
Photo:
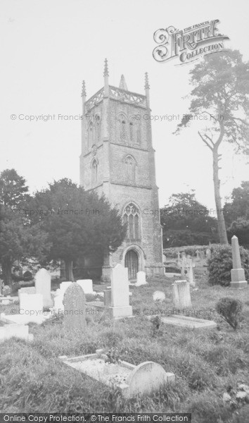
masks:
[(196, 200), (195, 192), (173, 194), (160, 209), (163, 247), (217, 242), (217, 220)]

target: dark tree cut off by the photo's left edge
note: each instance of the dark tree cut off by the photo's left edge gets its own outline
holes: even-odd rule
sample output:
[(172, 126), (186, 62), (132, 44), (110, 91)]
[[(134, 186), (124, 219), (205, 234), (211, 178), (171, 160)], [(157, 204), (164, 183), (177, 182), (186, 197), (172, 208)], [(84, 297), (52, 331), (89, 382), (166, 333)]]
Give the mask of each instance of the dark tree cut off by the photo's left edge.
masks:
[(12, 285), (11, 269), (15, 260), (27, 257), (44, 259), (46, 234), (40, 224), (30, 225), (23, 214), (30, 196), (25, 179), (14, 170), (0, 175), (0, 264), (4, 283)]

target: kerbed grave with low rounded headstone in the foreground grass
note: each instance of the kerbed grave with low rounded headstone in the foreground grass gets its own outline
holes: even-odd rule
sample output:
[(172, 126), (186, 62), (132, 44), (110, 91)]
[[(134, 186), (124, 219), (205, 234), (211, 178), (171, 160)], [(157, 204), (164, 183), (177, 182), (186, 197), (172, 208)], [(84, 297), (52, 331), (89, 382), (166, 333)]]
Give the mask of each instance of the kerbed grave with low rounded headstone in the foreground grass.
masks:
[(165, 372), (160, 364), (143, 362), (138, 366), (125, 361), (107, 363), (104, 354), (89, 354), (79, 357), (58, 357), (64, 364), (90, 376), (107, 386), (120, 389), (124, 398), (136, 395), (151, 395), (162, 386), (174, 382), (174, 374)]

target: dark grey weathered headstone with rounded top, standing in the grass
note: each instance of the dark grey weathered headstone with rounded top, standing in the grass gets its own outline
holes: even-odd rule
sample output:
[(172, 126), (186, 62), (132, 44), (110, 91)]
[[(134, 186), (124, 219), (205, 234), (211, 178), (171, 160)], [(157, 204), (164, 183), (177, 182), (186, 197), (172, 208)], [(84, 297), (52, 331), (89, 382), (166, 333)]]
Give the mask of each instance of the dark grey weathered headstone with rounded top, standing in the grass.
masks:
[(64, 294), (64, 327), (68, 334), (86, 329), (86, 298), (78, 283), (72, 282)]

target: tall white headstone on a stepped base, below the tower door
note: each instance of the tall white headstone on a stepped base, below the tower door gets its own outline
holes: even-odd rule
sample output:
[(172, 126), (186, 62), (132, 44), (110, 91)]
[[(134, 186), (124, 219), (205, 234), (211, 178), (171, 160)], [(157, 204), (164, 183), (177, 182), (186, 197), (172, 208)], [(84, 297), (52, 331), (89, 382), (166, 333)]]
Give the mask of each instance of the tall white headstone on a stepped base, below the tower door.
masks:
[(132, 306), (129, 305), (128, 269), (117, 264), (111, 269), (111, 307), (113, 318), (132, 316)]

